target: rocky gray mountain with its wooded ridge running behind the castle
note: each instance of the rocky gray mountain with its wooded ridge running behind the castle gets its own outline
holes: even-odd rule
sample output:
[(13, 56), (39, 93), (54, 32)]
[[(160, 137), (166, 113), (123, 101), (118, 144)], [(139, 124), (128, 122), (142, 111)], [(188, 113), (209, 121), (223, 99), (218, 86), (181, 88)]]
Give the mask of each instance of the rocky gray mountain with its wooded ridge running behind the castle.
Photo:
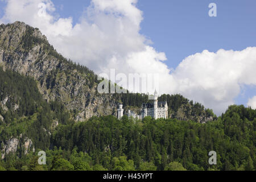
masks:
[[(143, 94), (99, 94), (97, 75), (88, 68), (65, 59), (48, 43), (38, 28), (23, 22), (1, 24), (0, 66), (37, 81), (39, 92), (47, 101), (59, 101), (76, 121), (100, 115), (117, 115), (119, 101), (125, 106), (141, 107)], [(182, 96), (162, 96), (170, 105), (169, 116), (188, 121), (212, 121), (214, 114)], [(128, 107), (126, 107), (127, 110)]]

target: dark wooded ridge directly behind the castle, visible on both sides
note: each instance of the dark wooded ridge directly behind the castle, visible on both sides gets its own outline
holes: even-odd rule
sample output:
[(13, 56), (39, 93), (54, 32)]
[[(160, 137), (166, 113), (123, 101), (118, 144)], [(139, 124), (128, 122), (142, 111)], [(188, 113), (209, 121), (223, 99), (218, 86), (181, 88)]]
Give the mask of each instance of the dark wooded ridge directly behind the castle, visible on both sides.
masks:
[[(138, 93), (114, 94), (114, 98), (123, 104), (125, 113), (130, 109), (139, 114), (142, 103), (152, 102), (148, 101), (147, 94)], [(199, 123), (206, 123), (217, 119), (211, 109), (206, 109), (198, 102), (189, 101), (180, 94), (163, 94), (158, 100), (167, 101), (169, 118), (176, 118), (182, 121), (192, 120)]]

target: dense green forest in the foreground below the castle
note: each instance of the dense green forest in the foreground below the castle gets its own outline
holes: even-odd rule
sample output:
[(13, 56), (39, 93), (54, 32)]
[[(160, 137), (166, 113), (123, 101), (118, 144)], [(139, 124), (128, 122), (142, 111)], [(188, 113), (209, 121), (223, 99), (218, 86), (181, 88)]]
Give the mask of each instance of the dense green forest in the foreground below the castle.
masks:
[[(92, 117), (86, 122), (61, 124), (50, 137), (52, 147), (17, 159), (1, 160), (7, 170), (254, 170), (256, 112), (230, 106), (221, 117), (205, 124), (177, 119), (134, 121), (124, 116)], [(43, 146), (42, 146), (43, 147)], [(46, 150), (46, 165), (37, 152)], [(209, 165), (208, 152), (217, 152)]]

